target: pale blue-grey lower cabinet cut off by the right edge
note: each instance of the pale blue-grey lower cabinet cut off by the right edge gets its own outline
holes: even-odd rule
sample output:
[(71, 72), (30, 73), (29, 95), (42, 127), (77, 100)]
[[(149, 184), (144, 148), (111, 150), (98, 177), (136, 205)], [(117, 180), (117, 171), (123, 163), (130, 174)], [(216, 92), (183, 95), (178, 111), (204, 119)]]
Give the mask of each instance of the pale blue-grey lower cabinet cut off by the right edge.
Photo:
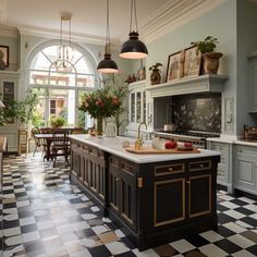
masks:
[(235, 146), (234, 187), (257, 194), (257, 148)]

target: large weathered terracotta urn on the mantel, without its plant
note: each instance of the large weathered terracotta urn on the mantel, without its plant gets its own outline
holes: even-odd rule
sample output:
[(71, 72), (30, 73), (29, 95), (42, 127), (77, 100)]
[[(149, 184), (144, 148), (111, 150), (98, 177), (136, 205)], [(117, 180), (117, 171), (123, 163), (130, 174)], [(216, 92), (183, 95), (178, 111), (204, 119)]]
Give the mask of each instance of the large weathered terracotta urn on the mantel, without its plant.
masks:
[(206, 52), (203, 54), (205, 74), (217, 74), (220, 64), (219, 59), (222, 56), (221, 52)]

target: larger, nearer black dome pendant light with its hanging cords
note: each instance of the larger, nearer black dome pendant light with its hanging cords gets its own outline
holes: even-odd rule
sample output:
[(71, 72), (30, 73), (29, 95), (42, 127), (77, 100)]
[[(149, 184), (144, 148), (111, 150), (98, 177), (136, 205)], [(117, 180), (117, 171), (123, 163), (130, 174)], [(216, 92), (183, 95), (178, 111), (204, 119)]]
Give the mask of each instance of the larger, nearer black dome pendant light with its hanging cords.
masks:
[[(136, 30), (132, 30), (132, 16), (133, 9), (135, 15)], [(125, 41), (121, 47), (121, 58), (125, 59), (143, 59), (148, 56), (146, 45), (138, 39), (137, 17), (136, 17), (136, 2), (131, 0), (131, 24), (130, 24), (130, 39)]]

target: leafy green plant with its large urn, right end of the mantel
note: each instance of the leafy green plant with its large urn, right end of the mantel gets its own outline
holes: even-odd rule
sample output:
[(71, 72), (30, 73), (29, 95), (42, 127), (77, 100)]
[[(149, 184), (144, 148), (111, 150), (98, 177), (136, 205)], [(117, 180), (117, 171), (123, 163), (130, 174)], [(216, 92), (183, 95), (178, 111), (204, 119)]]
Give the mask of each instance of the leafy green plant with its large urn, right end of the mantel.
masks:
[(197, 51), (203, 53), (205, 74), (217, 74), (219, 69), (219, 59), (223, 54), (215, 51), (217, 44), (219, 44), (218, 39), (212, 36), (206, 37), (203, 41), (191, 42), (191, 45), (196, 47)]

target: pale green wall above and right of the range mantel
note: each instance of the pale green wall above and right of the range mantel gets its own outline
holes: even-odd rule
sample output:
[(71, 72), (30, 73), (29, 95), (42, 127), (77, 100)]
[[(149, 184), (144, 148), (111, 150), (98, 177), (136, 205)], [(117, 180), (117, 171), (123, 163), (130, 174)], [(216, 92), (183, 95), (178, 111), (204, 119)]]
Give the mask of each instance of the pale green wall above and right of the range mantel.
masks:
[[(219, 74), (229, 75), (224, 84), (222, 101), (232, 97), (234, 111), (236, 106), (236, 0), (228, 0), (224, 4), (211, 10), (208, 13), (191, 21), (186, 25), (158, 38), (147, 45), (149, 56), (146, 59), (147, 77), (148, 68), (161, 62), (162, 82), (166, 81), (168, 57), (191, 46), (191, 41), (203, 40), (211, 35), (219, 39), (217, 51), (223, 52)], [(134, 62), (133, 70), (136, 72), (138, 62)], [(223, 113), (222, 113), (223, 115)], [(231, 134), (236, 134), (236, 113), (233, 117), (234, 127)], [(223, 126), (222, 126), (223, 127)]]

